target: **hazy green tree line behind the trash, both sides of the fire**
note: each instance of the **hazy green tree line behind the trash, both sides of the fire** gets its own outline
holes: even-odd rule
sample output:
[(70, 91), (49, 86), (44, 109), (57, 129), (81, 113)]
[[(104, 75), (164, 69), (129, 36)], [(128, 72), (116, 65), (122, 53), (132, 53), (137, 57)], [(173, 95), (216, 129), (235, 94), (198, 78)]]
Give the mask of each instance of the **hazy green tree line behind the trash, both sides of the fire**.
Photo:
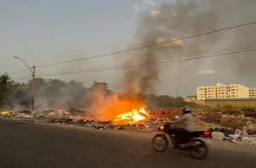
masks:
[[(95, 94), (111, 94), (108, 84), (94, 81), (91, 87), (84, 87), (81, 81), (35, 78), (35, 108), (87, 108)], [(194, 106), (184, 102), (182, 97), (168, 95), (140, 95), (150, 110), (157, 108), (181, 108)], [(31, 81), (14, 82), (8, 75), (0, 76), (0, 108), (29, 108)]]

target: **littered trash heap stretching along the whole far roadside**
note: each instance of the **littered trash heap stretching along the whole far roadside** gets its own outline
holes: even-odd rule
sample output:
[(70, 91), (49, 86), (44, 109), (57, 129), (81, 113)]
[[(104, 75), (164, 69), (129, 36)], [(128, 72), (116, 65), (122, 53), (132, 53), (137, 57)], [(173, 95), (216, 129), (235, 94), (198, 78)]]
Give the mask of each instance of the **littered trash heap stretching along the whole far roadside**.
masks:
[[(166, 123), (170, 118), (175, 118), (175, 116), (180, 115), (179, 108), (161, 108), (157, 111), (150, 112), (149, 117), (143, 122), (139, 123), (128, 123), (128, 124), (114, 124), (111, 121), (95, 121), (93, 118), (89, 118), (86, 109), (51, 109), (45, 108), (37, 113), (31, 113), (29, 110), (22, 111), (8, 111), (0, 110), (0, 117), (3, 118), (19, 118), (25, 121), (38, 121), (40, 123), (54, 123), (54, 124), (67, 124), (72, 126), (82, 126), (91, 127), (94, 129), (126, 129), (126, 130), (137, 130), (142, 132), (154, 132), (157, 131), (160, 126)], [(195, 117), (195, 126), (197, 129), (206, 129), (209, 127), (215, 128), (219, 127), (218, 124), (205, 123), (204, 113), (193, 113)], [(210, 115), (212, 114), (212, 115)], [(211, 118), (218, 120), (216, 118), (216, 113), (210, 113)], [(218, 113), (221, 115), (221, 113)], [(222, 115), (221, 115), (222, 116)], [(226, 125), (221, 125), (226, 127)], [(232, 126), (230, 126), (232, 127)], [(254, 144), (255, 137), (249, 134), (256, 134), (256, 123), (248, 122), (247, 127), (243, 129), (209, 129), (211, 131), (212, 139), (218, 140), (229, 140), (234, 143), (243, 144)]]

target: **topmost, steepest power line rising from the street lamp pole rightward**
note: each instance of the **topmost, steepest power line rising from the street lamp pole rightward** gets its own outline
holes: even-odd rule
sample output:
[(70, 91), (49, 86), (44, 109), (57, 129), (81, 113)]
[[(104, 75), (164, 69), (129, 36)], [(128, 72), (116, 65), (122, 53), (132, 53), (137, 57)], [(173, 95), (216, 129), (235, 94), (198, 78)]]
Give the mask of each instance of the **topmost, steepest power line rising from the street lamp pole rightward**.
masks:
[(191, 39), (191, 38), (195, 38), (195, 37), (200, 37), (200, 36), (205, 35), (205, 34), (219, 33), (219, 32), (226, 31), (228, 29), (237, 29), (237, 28), (241, 28), (241, 27), (249, 26), (249, 25), (253, 25), (253, 24), (256, 24), (256, 21), (255, 22), (249, 22), (249, 23), (246, 23), (246, 24), (238, 24), (238, 25), (235, 25), (235, 26), (230, 26), (230, 27), (222, 28), (222, 29), (215, 29), (215, 30), (211, 30), (211, 31), (204, 32), (204, 33), (201, 33), (201, 34), (187, 35), (187, 36), (184, 36), (182, 38), (171, 39), (171, 40), (166, 40), (166, 41), (163, 41), (163, 42), (152, 43), (150, 45), (142, 45), (142, 46), (127, 49), (127, 50), (120, 50), (120, 51), (110, 52), (110, 53), (102, 54), (102, 55), (92, 55), (92, 56), (88, 56), (88, 57), (84, 57), (84, 58), (80, 58), (80, 59), (76, 59), (76, 60), (66, 60), (66, 61), (61, 61), (61, 62), (49, 63), (49, 64), (40, 65), (40, 66), (36, 66), (36, 67), (56, 66), (56, 65), (67, 64), (67, 63), (80, 61), (80, 60), (89, 60), (89, 59), (100, 58), (100, 57), (104, 57), (104, 56), (108, 56), (108, 55), (117, 55), (117, 54), (130, 52), (130, 51), (134, 51), (134, 50), (145, 49), (145, 48), (152, 47), (152, 46), (173, 43), (175, 41), (179, 41), (179, 40), (183, 40), (183, 39)]

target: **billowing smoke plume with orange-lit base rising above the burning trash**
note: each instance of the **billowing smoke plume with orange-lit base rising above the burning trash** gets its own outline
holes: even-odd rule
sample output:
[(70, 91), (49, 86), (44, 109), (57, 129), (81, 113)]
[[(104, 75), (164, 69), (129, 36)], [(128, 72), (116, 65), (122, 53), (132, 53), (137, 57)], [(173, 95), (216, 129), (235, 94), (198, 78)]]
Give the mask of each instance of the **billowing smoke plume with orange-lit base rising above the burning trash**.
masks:
[[(232, 5), (232, 8), (228, 8), (228, 4), (232, 3), (236, 3), (237, 6)], [(243, 4), (242, 6), (250, 6), (252, 3), (253, 1), (248, 1), (248, 4)], [(223, 10), (223, 4), (225, 10)], [(132, 46), (152, 45), (171, 39), (179, 39), (180, 37), (191, 34), (201, 34), (205, 31), (244, 23), (247, 20), (244, 21), (241, 19), (242, 22), (239, 19), (225, 18), (227, 15), (225, 13), (232, 16), (232, 13), (235, 13), (238, 9), (239, 4), (242, 4), (242, 2), (238, 0), (227, 0), (224, 3), (222, 1), (216, 3), (216, 1), (210, 0), (162, 3), (140, 14), (135, 32), (136, 43)], [(238, 36), (234, 34), (237, 32)], [(243, 42), (245, 42), (243, 35), (247, 36), (252, 33), (250, 32), (248, 34), (243, 31), (237, 32), (209, 34), (194, 39), (176, 40), (173, 43), (157, 45), (132, 52), (129, 59), (125, 61), (125, 64), (131, 65), (131, 62), (134, 62), (132, 66), (138, 67), (125, 72), (123, 79), (124, 92), (122, 92), (122, 95), (125, 95), (125, 99), (121, 98), (120, 94), (117, 93), (106, 95), (101, 90), (95, 90), (93, 96), (91, 96), (94, 101), (89, 111), (96, 114), (93, 116), (98, 119), (108, 120), (115, 117), (115, 115), (121, 111), (127, 112), (131, 110), (131, 108), (141, 108), (140, 106), (142, 106), (144, 102), (142, 97), (138, 95), (155, 93), (157, 83), (160, 82), (159, 76), (162, 67), (155, 65), (158, 60), (170, 59), (169, 55), (176, 55), (176, 57), (172, 59), (177, 59), (178, 55), (211, 50), (215, 47), (223, 47), (225, 45), (231, 46), (233, 41), (239, 41), (239, 43), (243, 44)], [(205, 60), (199, 60), (199, 62), (199, 65), (209, 64), (209, 62)], [(243, 66), (243, 61), (240, 63), (236, 60), (228, 60), (228, 62)], [(143, 66), (140, 66), (141, 64)], [(216, 67), (223, 65), (223, 63), (220, 64), (218, 61), (213, 61), (210, 64), (216, 65)], [(216, 74), (215, 70), (204, 68), (203, 71), (200, 66), (192, 66), (195, 66), (193, 70), (195, 71), (195, 75), (204, 74), (214, 76)], [(187, 68), (181, 67), (181, 70), (183, 69)], [(133, 95), (133, 97), (131, 97), (131, 95)], [(113, 116), (111, 116), (112, 114)]]

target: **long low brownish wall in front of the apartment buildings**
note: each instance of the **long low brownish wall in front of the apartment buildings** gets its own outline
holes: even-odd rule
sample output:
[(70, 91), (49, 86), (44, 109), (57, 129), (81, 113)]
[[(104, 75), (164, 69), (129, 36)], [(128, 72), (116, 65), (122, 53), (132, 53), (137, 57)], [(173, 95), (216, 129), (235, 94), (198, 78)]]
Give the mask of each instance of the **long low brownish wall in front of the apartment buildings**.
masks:
[(217, 106), (231, 105), (239, 108), (256, 108), (256, 99), (228, 99), (228, 100), (205, 100), (204, 105), (216, 108)]

